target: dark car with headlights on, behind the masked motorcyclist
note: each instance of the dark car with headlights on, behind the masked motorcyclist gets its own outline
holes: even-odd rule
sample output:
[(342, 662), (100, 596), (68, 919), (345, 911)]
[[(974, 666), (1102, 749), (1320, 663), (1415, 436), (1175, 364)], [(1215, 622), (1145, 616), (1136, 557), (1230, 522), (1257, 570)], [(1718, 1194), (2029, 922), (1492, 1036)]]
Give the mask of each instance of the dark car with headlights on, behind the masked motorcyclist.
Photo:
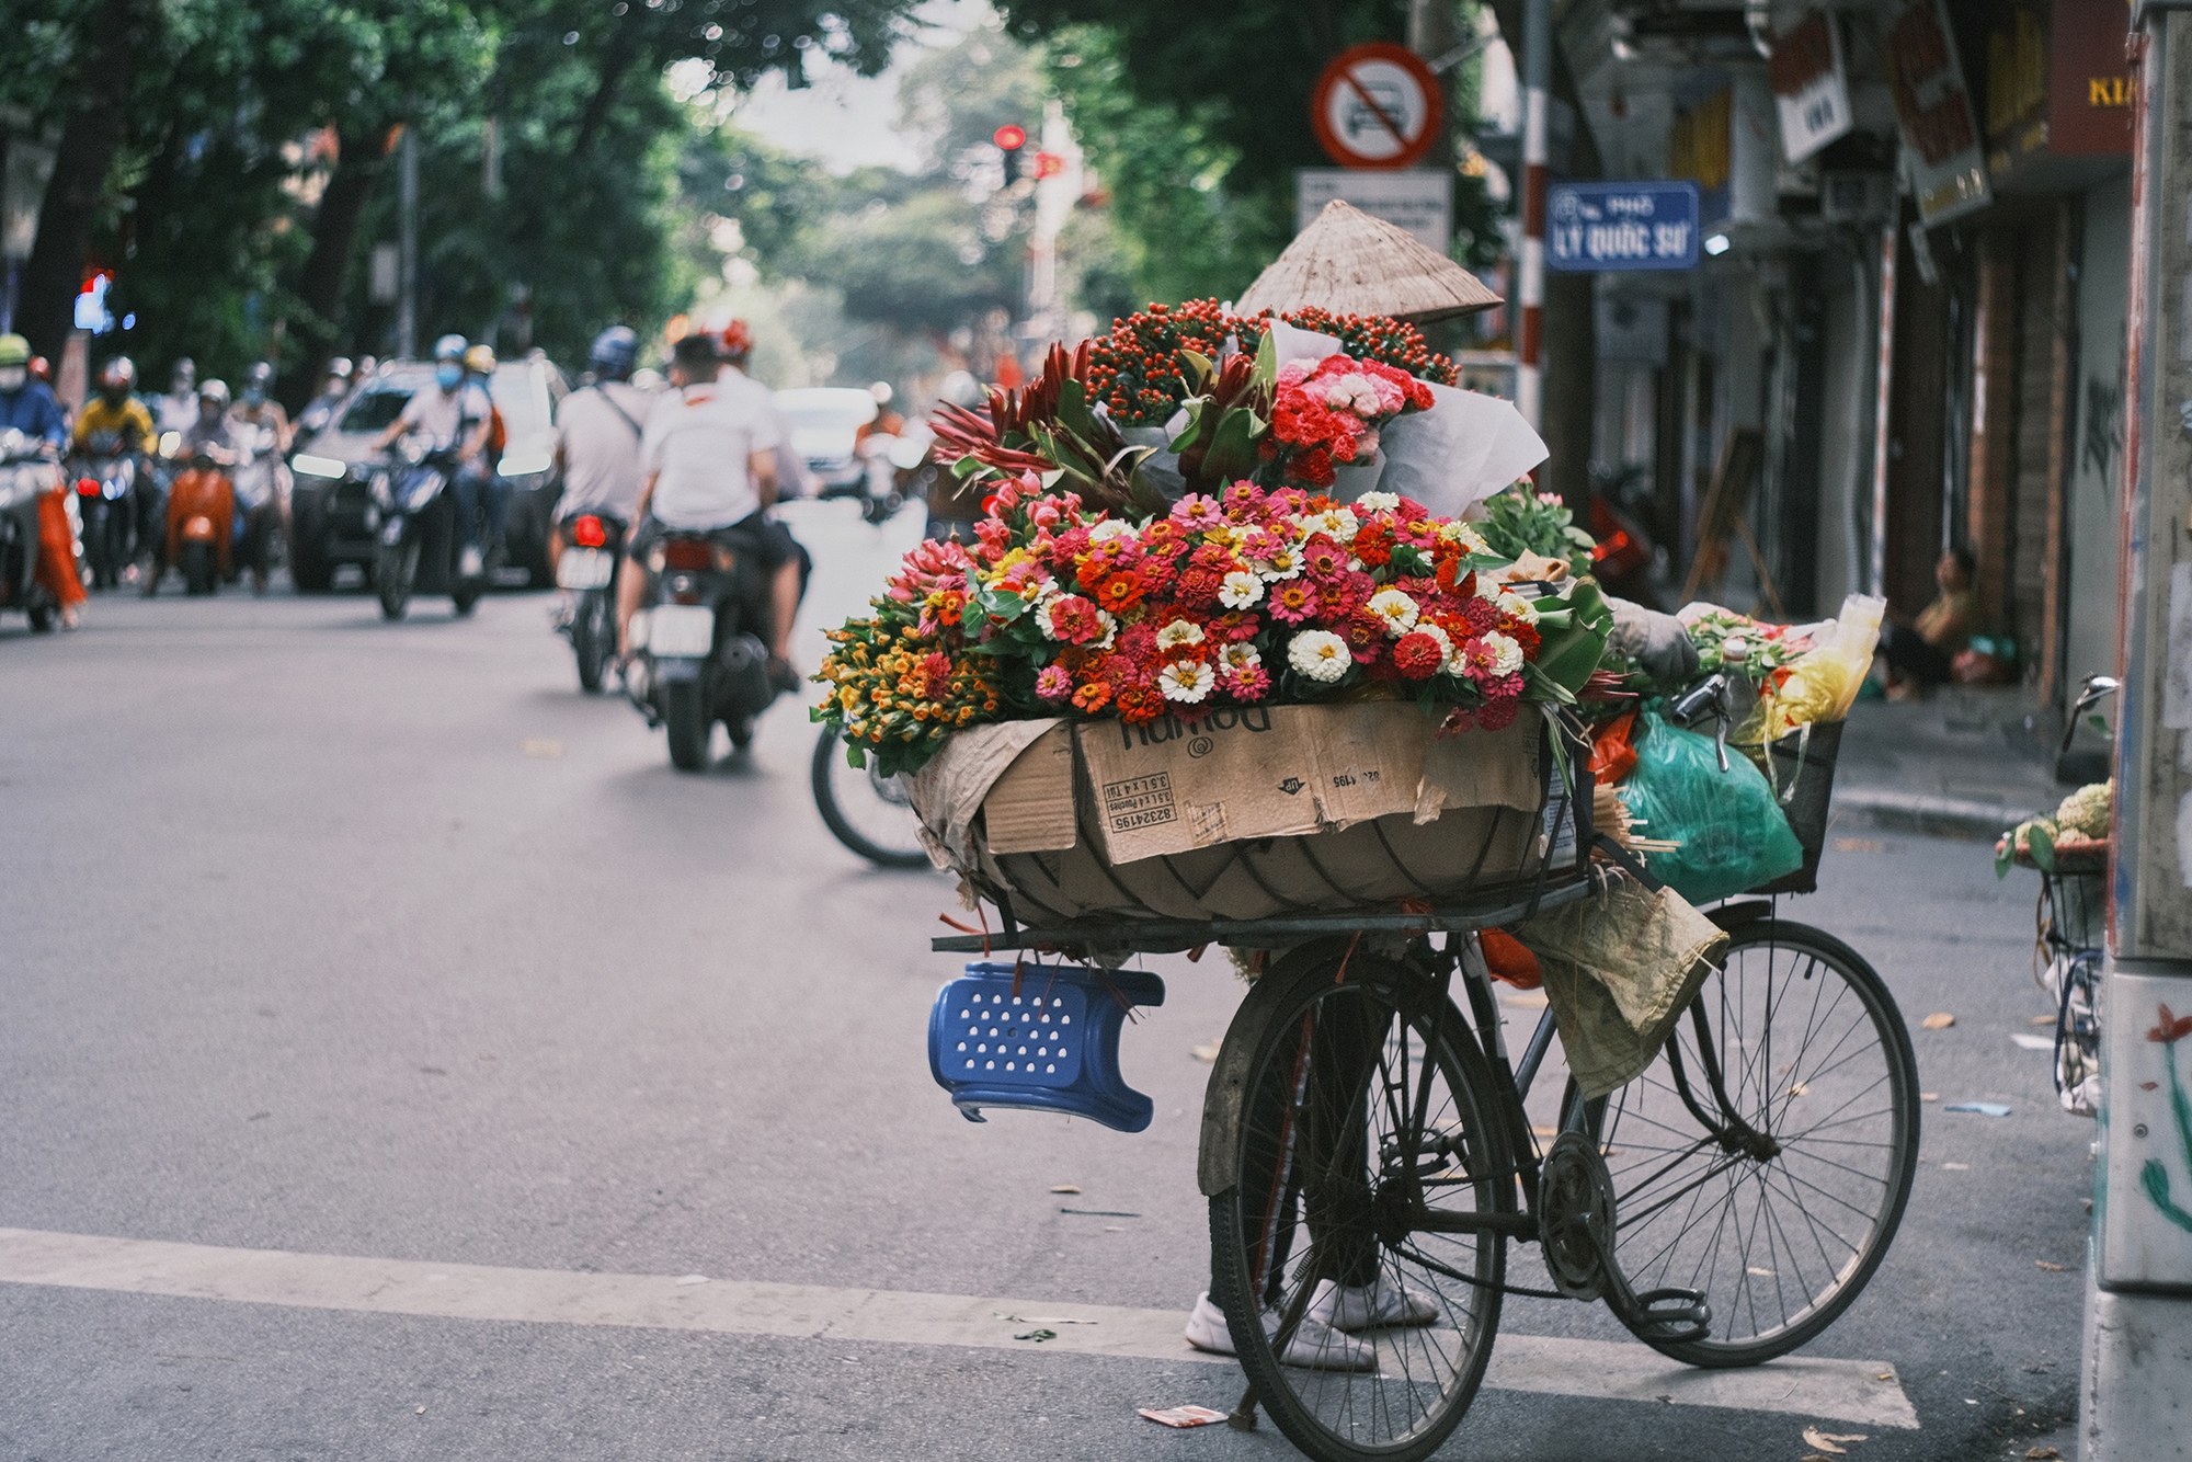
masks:
[[(379, 509), (373, 506), (373, 443), (403, 412), (412, 392), (432, 386), (432, 362), (392, 359), (366, 377), (342, 403), (342, 414), (289, 454), (289, 576), (318, 594), (333, 587), (335, 570), (355, 563), (370, 572), (379, 546)], [(548, 528), (563, 484), (555, 476), (555, 408), (570, 390), (563, 373), (541, 351), (495, 366), (489, 381), (502, 412), (506, 441), (498, 471), (511, 484), (504, 526), (504, 566), (495, 583), (552, 581)]]

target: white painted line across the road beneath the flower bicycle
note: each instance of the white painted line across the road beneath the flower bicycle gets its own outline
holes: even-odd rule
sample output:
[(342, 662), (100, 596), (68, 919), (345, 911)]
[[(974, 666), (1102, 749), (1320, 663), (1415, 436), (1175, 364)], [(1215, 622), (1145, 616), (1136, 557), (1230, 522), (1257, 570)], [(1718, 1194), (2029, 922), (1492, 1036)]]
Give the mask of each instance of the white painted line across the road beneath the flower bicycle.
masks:
[[(219, 1249), (149, 1238), (101, 1238), (0, 1227), (0, 1282), (105, 1289), (184, 1300), (289, 1304), (370, 1315), (430, 1315), (520, 1324), (603, 1324), (721, 1335), (1070, 1350), (1155, 1361), (1230, 1359), (1190, 1350), (1184, 1315), (1057, 1300), (984, 1300), (894, 1289), (831, 1289), (669, 1273), (495, 1269), (406, 1258)], [(1057, 1339), (1019, 1341), (1026, 1315)], [(1879, 1377), (1887, 1372), (1890, 1379)], [(1786, 1357), (1751, 1370), (1690, 1370), (1637, 1346), (1550, 1335), (1502, 1335), (1486, 1385), (1554, 1396), (1786, 1412), (1874, 1427), (1916, 1427), (1883, 1361)]]

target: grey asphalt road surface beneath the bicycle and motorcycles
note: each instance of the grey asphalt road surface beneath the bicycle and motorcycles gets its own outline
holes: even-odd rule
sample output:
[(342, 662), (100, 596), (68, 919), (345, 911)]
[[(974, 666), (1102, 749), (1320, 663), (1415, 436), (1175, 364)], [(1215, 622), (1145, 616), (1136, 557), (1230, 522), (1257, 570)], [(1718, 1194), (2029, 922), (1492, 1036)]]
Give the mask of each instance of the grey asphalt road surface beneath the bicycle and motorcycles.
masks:
[[(809, 509), (800, 530), (820, 623), (914, 524)], [(7, 1230), (79, 1260), (92, 1238), (184, 1245), (0, 1278), (0, 1458), (1293, 1455), (1269, 1425), (1140, 1420), (1238, 1396), (1232, 1368), (1162, 1344), (975, 1341), (980, 1315), (923, 1328), (890, 1320), (899, 1300), (754, 1335), (544, 1298), (708, 1276), (826, 1289), (783, 1291), (800, 1304), (1186, 1311), (1208, 1265), (1195, 1048), (1241, 995), (1217, 962), (1151, 962), (1171, 993), (1124, 1048), (1146, 1133), (962, 1122), (923, 1050), (949, 883), (829, 837), (798, 706), (747, 756), (675, 774), (627, 704), (579, 695), (546, 605), (421, 601), (384, 625), (364, 594), (171, 587), (103, 596), (75, 636), (0, 625), (0, 1273)], [(1517, 1339), (1526, 1390), (1486, 1390), (1442, 1455), (1795, 1462), (1804, 1427), (1865, 1434), (1841, 1442), (1865, 1462), (2056, 1440), (2093, 1129), (2012, 1043), (2047, 1008), (2034, 890), (1977, 844), (1837, 835), (1791, 914), (1879, 964), (1940, 1103), (1894, 1252), (1804, 1355), (1879, 1363), (1918, 1425), (1800, 1414), (1780, 1372), (1745, 1372), (1736, 1405), (1655, 1401), (1666, 1368), (1640, 1346), (1567, 1366)], [(1933, 1010), (1955, 1026), (1916, 1028)], [(1962, 1098), (2012, 1116), (1940, 1111)], [(390, 1293), (478, 1280), (506, 1304), (375, 1311), (329, 1300), (335, 1258), (254, 1289), (261, 1260), (217, 1252), (408, 1260)], [(1534, 1265), (1521, 1249), (1519, 1282)], [(1600, 1309), (1528, 1300), (1504, 1335), (1624, 1339)], [(1609, 1355), (1646, 1398), (1602, 1394)]]

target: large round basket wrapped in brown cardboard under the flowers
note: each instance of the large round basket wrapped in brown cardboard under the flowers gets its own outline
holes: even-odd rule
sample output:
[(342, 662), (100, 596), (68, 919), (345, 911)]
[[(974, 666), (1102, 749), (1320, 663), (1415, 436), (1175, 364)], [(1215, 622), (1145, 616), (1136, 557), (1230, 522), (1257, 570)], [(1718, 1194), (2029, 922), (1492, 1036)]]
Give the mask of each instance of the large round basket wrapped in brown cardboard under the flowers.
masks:
[(912, 800), (943, 857), (1028, 925), (1392, 912), (1576, 864), (1537, 717), (1438, 736), (1405, 701), (978, 728)]

